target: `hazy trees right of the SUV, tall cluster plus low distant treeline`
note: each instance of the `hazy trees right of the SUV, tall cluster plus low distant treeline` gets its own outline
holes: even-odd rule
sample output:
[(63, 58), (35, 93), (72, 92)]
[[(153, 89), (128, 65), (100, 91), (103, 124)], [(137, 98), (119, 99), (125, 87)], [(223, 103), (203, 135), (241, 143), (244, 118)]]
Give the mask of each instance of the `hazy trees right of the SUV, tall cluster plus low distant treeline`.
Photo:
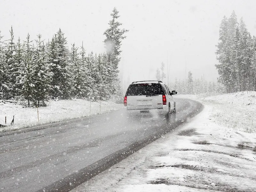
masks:
[[(219, 43), (216, 45), (218, 82), (193, 79), (189, 71), (184, 80), (175, 80), (170, 87), (180, 94), (231, 93), (256, 91), (256, 37), (248, 32), (243, 18), (237, 21), (236, 13), (223, 17), (220, 24)], [(162, 64), (163, 65), (163, 64)], [(156, 78), (163, 74), (158, 70)]]

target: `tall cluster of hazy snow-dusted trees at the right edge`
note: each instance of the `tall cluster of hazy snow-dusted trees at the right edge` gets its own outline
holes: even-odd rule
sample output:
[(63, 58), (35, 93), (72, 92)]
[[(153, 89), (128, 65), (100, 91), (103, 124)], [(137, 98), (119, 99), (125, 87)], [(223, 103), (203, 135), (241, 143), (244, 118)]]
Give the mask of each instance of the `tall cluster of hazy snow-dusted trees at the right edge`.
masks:
[(256, 91), (256, 37), (248, 32), (236, 13), (223, 17), (220, 24), (216, 68), (219, 82), (227, 92)]

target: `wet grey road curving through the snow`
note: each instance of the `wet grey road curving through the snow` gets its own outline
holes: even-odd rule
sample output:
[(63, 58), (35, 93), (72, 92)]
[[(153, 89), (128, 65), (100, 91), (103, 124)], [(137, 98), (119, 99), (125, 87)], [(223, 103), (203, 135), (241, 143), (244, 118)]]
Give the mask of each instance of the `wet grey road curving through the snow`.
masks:
[[(68, 191), (202, 110), (176, 99), (177, 123), (129, 121), (125, 110), (20, 132), (0, 133), (0, 191)], [(15, 133), (15, 134), (14, 134)]]

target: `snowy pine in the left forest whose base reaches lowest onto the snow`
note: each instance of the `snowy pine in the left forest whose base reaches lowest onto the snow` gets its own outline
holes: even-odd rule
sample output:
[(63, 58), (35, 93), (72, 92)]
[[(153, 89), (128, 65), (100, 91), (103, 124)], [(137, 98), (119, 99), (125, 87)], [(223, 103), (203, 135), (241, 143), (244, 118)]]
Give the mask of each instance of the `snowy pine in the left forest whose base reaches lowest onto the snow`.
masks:
[(48, 100), (48, 93), (50, 88), (51, 74), (49, 72), (49, 65), (47, 63), (47, 53), (45, 50), (42, 35), (37, 35), (36, 48), (32, 57), (32, 71), (31, 82), (33, 84), (31, 95), (33, 104), (37, 107), (45, 106), (45, 101)]

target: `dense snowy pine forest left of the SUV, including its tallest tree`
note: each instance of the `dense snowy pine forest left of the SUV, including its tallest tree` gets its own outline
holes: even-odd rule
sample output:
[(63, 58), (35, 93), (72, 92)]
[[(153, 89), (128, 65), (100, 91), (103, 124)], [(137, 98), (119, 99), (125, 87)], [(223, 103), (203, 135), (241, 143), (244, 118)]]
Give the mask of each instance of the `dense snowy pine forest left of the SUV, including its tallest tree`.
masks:
[(121, 40), (128, 30), (116, 8), (104, 35), (106, 53), (86, 53), (83, 42), (68, 50), (61, 29), (45, 42), (37, 35), (15, 41), (11, 27), (9, 40), (2, 42), (0, 31), (0, 99), (25, 100), (28, 106), (44, 106), (52, 99), (84, 98), (92, 101), (122, 97), (118, 79)]

